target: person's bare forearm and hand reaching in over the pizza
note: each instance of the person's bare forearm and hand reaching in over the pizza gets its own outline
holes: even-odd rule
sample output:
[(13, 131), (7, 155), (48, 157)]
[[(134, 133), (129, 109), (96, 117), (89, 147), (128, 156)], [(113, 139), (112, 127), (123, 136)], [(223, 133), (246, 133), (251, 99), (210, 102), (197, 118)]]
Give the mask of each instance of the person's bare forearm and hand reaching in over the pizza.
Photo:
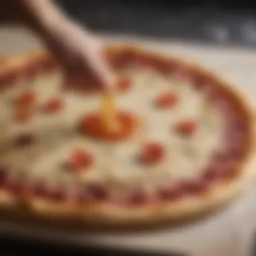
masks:
[(0, 1), (0, 10), (36, 32), (73, 80), (82, 81), (91, 75), (104, 89), (109, 88), (112, 74), (101, 55), (98, 39), (71, 20), (53, 1)]

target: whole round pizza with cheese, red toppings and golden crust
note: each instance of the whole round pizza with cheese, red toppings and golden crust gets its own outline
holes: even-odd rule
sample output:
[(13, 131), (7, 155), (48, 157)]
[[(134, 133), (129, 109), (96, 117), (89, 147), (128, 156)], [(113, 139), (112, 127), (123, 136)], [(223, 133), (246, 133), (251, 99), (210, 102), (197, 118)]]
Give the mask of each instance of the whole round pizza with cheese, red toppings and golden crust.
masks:
[(255, 137), (242, 92), (143, 47), (105, 54), (111, 97), (72, 90), (46, 51), (1, 61), (1, 212), (151, 226), (212, 212), (247, 187)]

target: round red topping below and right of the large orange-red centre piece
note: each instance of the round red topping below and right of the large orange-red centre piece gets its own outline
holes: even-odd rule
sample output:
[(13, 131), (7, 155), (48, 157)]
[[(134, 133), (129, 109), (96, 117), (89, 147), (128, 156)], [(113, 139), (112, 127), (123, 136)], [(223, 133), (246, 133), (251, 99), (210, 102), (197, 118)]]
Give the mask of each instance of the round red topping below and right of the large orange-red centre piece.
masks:
[(164, 147), (157, 142), (149, 142), (143, 145), (139, 160), (143, 164), (158, 164), (164, 159)]

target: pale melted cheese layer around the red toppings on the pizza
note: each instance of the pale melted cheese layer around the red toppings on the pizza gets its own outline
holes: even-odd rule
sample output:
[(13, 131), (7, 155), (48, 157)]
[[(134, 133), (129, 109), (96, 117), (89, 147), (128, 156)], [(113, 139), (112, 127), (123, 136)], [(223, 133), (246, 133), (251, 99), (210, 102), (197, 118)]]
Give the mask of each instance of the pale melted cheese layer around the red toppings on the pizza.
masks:
[[(118, 96), (118, 106), (137, 115), (146, 127), (137, 140), (110, 144), (79, 135), (79, 120), (100, 109), (101, 95), (62, 92), (61, 75), (56, 73), (23, 83), (19, 89), (1, 95), (0, 145), (8, 150), (1, 155), (0, 163), (17, 172), (26, 170), (32, 182), (44, 179), (51, 185), (79, 180), (79, 183), (111, 183), (119, 189), (156, 189), (166, 183), (198, 177), (220, 145), (222, 125), (218, 109), (205, 102), (189, 84), (162, 77), (156, 71), (129, 69), (125, 75), (131, 77), (133, 86)], [(28, 124), (18, 125), (11, 116), (14, 108), (11, 102), (18, 92), (27, 88), (32, 88), (38, 97), (35, 117)], [(162, 91), (177, 94), (177, 106), (156, 108), (154, 100)], [(40, 111), (40, 106), (53, 96), (64, 100), (65, 109), (53, 115)], [(196, 133), (188, 138), (178, 135), (174, 129), (177, 122), (187, 119), (199, 124)], [(25, 131), (36, 135), (36, 144), (25, 148), (11, 146), (13, 137)], [(166, 159), (156, 166), (144, 166), (137, 161), (139, 150), (147, 141), (158, 141), (166, 151)], [(74, 148), (92, 153), (94, 165), (90, 170), (75, 174), (63, 168)]]

